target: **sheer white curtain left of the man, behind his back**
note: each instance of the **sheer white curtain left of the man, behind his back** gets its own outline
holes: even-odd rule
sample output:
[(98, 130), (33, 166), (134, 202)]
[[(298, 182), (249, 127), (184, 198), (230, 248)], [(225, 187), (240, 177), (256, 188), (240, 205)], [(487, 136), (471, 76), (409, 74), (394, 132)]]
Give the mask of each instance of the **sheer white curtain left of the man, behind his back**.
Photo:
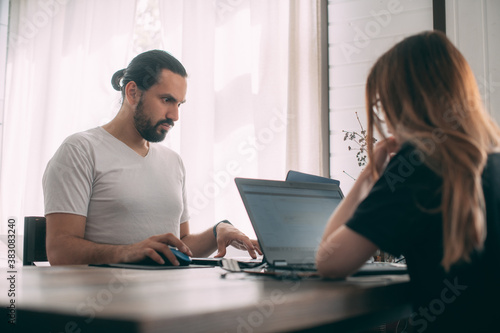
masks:
[(70, 134), (118, 109), (110, 80), (130, 58), (135, 1), (11, 1), (0, 168), (7, 217), (43, 215), (41, 179)]

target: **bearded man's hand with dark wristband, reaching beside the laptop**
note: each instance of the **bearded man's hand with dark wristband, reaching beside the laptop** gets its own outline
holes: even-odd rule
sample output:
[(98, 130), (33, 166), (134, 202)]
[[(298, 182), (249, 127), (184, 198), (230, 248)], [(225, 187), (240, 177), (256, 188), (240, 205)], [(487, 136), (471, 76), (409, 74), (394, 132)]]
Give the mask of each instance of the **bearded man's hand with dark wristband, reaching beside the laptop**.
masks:
[(216, 258), (226, 255), (226, 248), (231, 245), (238, 250), (248, 251), (252, 258), (257, 258), (257, 254), (262, 255), (259, 243), (248, 238), (244, 233), (228, 223), (217, 225), (217, 254)]

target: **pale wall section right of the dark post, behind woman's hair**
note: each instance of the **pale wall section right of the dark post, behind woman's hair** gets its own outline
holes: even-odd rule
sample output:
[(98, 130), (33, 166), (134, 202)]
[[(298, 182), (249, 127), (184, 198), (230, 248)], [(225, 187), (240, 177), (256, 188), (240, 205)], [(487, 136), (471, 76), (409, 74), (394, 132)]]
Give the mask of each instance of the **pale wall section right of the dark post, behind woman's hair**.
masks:
[(446, 34), (471, 65), (486, 109), (500, 123), (500, 1), (446, 0)]

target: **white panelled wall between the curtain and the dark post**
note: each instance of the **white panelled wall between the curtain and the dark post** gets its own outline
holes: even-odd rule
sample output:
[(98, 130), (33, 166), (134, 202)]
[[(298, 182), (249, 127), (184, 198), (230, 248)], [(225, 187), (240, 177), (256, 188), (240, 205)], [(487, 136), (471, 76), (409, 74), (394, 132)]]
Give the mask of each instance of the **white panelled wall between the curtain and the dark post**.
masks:
[(365, 126), (364, 88), (375, 60), (403, 38), (432, 29), (431, 0), (330, 0), (330, 175), (347, 193), (361, 171), (347, 131)]

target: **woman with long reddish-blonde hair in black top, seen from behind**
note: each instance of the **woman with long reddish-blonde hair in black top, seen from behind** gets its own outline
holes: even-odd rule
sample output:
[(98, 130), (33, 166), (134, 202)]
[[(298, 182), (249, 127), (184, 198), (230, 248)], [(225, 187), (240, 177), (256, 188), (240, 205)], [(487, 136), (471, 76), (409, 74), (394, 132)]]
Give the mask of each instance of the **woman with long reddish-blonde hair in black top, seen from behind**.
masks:
[(328, 222), (319, 272), (345, 277), (378, 248), (404, 255), (410, 331), (493, 331), (500, 129), (469, 65), (442, 33), (409, 37), (372, 67), (366, 109), (370, 163)]

